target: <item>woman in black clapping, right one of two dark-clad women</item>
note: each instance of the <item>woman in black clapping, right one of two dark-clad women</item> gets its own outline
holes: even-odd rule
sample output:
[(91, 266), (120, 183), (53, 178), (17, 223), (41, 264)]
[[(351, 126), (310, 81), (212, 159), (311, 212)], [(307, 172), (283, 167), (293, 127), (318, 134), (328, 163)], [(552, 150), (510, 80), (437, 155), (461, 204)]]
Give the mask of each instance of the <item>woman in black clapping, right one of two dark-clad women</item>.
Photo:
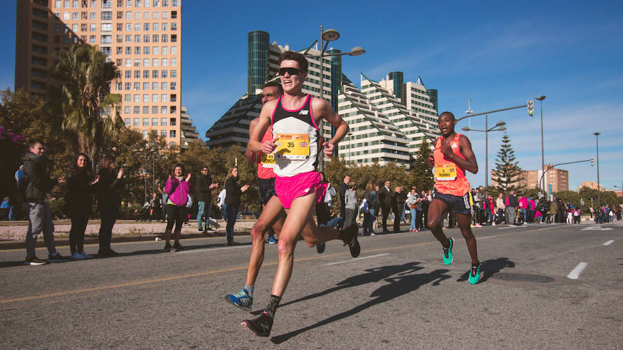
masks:
[(110, 248), (112, 228), (119, 216), (121, 205), (121, 190), (123, 189), (123, 168), (115, 170), (115, 158), (105, 156), (100, 161), (100, 178), (97, 191), (98, 211), (100, 212), (100, 232), (98, 239), (100, 249), (98, 255), (102, 257), (114, 257), (118, 253)]

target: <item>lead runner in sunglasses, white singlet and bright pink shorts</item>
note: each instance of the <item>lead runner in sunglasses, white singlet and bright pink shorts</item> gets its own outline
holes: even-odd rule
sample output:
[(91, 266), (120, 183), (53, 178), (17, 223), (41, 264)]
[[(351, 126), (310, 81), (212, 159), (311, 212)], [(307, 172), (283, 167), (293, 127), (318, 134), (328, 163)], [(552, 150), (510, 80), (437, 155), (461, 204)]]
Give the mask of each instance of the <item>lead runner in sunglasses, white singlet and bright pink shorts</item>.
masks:
[[(332, 156), (337, 143), (348, 132), (348, 125), (327, 101), (303, 94), (303, 82), (307, 78), (307, 60), (303, 55), (286, 51), (282, 53), (279, 62), (284, 94), (279, 100), (264, 104), (260, 121), (249, 140), (249, 149), (252, 151), (276, 154), (274, 172), (277, 176), (277, 196), (269, 201), (262, 216), (271, 215), (270, 212), (281, 208), (287, 213), (279, 236), (279, 263), (268, 306), (259, 317), (241, 323), (255, 335), (264, 337), (271, 333), (277, 306), (289, 282), (298, 237), (303, 236), (309, 246), (341, 239), (348, 244), (352, 257), (357, 257), (361, 249), (357, 241), (356, 225), (344, 230), (318, 228), (311, 217), (311, 209), (314, 208), (320, 187), (320, 173), (316, 170), (320, 154), (320, 131), (317, 125), (324, 118), (336, 128), (334, 138), (322, 145), (327, 157)], [(271, 124), (273, 139), (260, 142)]]

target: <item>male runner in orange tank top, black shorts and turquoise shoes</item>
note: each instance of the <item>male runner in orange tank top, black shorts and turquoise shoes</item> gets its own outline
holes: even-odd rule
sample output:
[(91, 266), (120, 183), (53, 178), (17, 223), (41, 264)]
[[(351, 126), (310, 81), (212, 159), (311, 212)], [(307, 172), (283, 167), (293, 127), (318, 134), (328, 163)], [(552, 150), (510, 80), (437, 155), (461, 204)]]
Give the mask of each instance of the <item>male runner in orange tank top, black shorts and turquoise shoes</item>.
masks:
[(469, 183), (465, 170), (476, 174), (478, 163), (471, 150), (471, 142), (454, 132), (456, 120), (450, 112), (441, 113), (437, 122), (442, 133), (435, 140), (435, 150), (428, 158), (428, 165), (433, 166), (435, 190), (433, 201), (428, 205), (428, 228), (444, 248), (444, 264), (450, 265), (454, 259), (452, 248), (454, 239), (448, 239), (442, 230), (445, 212), (450, 210), (456, 215), (456, 222), (461, 230), (471, 256), (471, 270), (468, 281), (478, 283), (480, 279), (480, 261), (476, 250), (476, 237), (471, 232), (471, 205), (469, 204)]

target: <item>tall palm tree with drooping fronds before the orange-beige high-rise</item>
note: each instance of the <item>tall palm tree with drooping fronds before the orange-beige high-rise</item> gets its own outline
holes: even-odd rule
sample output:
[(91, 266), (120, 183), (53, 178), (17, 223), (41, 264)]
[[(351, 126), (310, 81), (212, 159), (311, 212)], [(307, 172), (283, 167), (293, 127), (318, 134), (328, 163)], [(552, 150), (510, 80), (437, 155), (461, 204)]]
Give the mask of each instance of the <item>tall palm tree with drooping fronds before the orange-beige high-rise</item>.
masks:
[(75, 44), (61, 50), (53, 76), (62, 85), (62, 128), (75, 133), (78, 151), (97, 156), (102, 145), (125, 127), (117, 111), (121, 97), (110, 93), (117, 68), (98, 46)]

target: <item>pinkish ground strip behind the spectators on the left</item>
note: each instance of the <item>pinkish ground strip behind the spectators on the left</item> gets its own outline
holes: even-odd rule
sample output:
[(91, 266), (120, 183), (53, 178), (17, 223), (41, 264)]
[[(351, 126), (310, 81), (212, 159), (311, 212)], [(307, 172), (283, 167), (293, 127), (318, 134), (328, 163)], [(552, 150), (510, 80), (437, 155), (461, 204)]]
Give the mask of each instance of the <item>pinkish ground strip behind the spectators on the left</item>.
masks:
[[(245, 220), (238, 219), (235, 224), (234, 231), (236, 234), (250, 234), (255, 219)], [(210, 227), (215, 228), (213, 223), (217, 223), (215, 231), (208, 231), (208, 235), (197, 231), (197, 221), (189, 220), (189, 225), (183, 225), (181, 230), (181, 238), (196, 237), (224, 237), (225, 221), (210, 221)], [(120, 241), (149, 241), (153, 240), (156, 235), (163, 234), (167, 223), (160, 221), (134, 221), (119, 220), (113, 227), (113, 243)], [(54, 221), (54, 239), (57, 246), (69, 246), (69, 230), (71, 222), (69, 220)], [(28, 231), (28, 221), (0, 221), (0, 250), (24, 248), (24, 240)], [(84, 243), (97, 243), (98, 232), (100, 231), (100, 221), (91, 220), (84, 232)], [(37, 248), (45, 246), (43, 234), (37, 237)]]

